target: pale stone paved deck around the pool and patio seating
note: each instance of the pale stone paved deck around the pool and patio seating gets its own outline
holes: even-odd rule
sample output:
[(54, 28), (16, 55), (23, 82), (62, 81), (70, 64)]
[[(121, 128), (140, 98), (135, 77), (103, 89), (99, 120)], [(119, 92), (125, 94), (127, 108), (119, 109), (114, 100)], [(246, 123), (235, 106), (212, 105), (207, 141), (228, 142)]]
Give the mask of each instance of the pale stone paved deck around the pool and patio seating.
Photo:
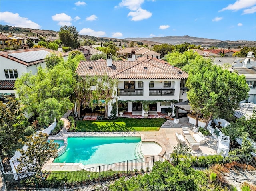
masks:
[[(68, 132), (68, 120), (62, 118), (64, 120), (64, 128), (54, 136), (49, 136), (49, 139), (57, 139), (63, 140), (68, 137), (84, 137), (84, 136), (141, 136), (142, 139), (144, 137), (145, 140), (156, 140), (158, 144), (164, 145), (166, 154), (171, 153), (174, 149), (174, 146), (177, 145), (177, 141), (175, 139), (175, 132), (182, 133), (182, 127), (188, 127), (190, 134), (193, 135), (192, 131), (194, 125), (188, 122), (187, 117), (180, 118), (179, 123), (175, 124), (172, 120), (167, 120), (160, 128), (159, 131), (143, 131), (143, 132)], [(188, 142), (186, 141), (187, 145)], [(199, 146), (199, 150), (192, 151), (194, 153), (205, 153), (205, 154), (216, 154), (217, 151), (217, 140), (214, 139), (213, 136), (206, 136), (206, 143), (204, 145)], [(142, 148), (143, 152), (143, 148)], [(146, 151), (145, 151), (146, 152)], [(164, 154), (163, 153), (163, 154)], [(161, 153), (162, 154), (162, 153)], [(95, 165), (82, 165), (81, 163), (52, 163), (53, 159), (50, 159), (46, 165), (44, 165), (42, 170), (50, 170), (50, 171), (63, 171), (63, 170), (81, 170), (86, 169), (93, 166), (99, 166), (99, 164)]]

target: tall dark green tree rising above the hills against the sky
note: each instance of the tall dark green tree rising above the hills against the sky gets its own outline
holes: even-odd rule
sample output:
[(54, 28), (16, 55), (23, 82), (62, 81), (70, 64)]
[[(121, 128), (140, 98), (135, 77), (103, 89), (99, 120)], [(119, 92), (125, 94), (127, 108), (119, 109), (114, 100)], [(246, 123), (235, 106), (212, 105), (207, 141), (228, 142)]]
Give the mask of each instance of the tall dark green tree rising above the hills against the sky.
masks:
[(75, 26), (61, 26), (59, 32), (59, 38), (64, 44), (64, 46), (71, 47), (75, 49), (79, 46), (78, 42), (78, 30), (76, 30)]

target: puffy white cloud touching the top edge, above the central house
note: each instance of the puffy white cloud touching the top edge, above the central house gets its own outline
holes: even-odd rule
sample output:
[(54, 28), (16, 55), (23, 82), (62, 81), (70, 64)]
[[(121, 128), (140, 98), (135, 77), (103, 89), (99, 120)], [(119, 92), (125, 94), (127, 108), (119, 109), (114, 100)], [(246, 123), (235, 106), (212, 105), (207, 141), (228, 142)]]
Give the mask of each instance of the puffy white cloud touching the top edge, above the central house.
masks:
[[(141, 4), (143, 2), (144, 0), (122, 0), (122, 2), (119, 3), (119, 6), (126, 7), (131, 10), (127, 16), (131, 16), (132, 21), (140, 21), (152, 16), (151, 12), (141, 8)], [(115, 8), (117, 8), (117, 6), (115, 6)]]

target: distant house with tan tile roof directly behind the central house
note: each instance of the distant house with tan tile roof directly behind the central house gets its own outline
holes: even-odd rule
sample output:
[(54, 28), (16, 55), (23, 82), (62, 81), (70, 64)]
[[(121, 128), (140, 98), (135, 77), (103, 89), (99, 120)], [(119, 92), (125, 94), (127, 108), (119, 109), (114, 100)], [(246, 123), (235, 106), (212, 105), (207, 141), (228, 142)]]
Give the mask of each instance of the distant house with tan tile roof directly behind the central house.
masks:
[(150, 50), (148, 48), (145, 48), (145, 47), (124, 48), (124, 49), (118, 50), (116, 53), (119, 57), (125, 56), (128, 58), (129, 57), (128, 54), (132, 53), (132, 51), (135, 51), (136, 58), (147, 56), (147, 57), (160, 59), (160, 56), (161, 56), (160, 53), (157, 53), (157, 52)]

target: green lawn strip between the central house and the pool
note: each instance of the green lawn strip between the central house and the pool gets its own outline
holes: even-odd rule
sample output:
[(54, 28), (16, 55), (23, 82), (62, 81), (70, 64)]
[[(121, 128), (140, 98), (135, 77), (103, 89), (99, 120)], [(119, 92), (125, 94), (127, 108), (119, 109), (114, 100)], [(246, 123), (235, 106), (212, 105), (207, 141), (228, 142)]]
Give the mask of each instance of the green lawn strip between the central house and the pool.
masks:
[(158, 131), (164, 118), (135, 119), (118, 117), (115, 120), (76, 121), (76, 131)]

